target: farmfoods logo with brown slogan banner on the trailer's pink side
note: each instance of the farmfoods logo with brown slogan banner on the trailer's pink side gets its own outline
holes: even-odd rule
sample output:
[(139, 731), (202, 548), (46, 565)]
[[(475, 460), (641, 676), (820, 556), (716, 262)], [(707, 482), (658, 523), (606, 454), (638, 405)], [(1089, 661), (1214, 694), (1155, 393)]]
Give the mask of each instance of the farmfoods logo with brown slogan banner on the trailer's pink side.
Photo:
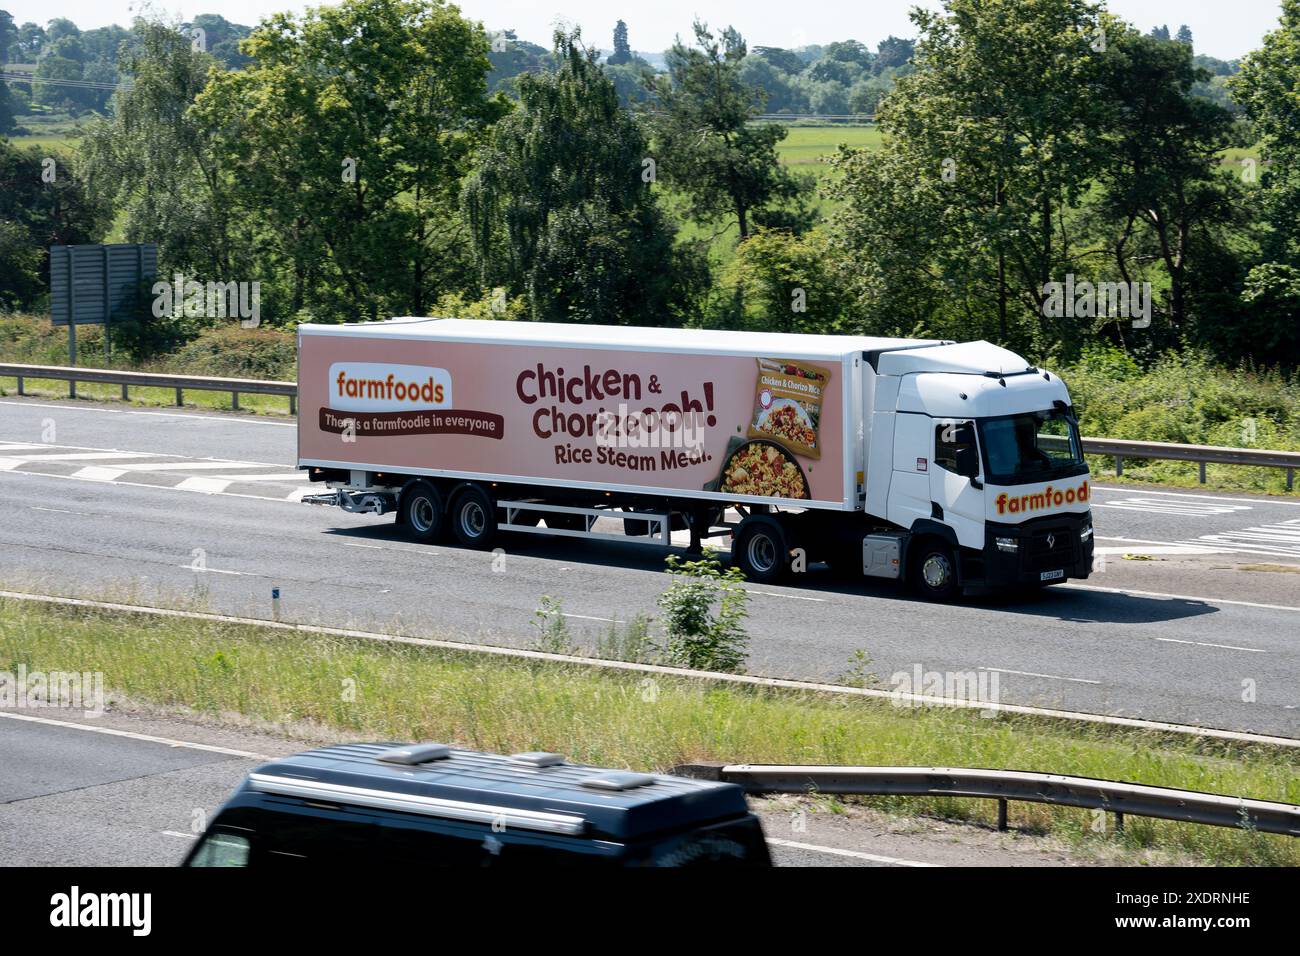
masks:
[(455, 408), (451, 372), (433, 365), (335, 362), (320, 428), (348, 436), (471, 434), (503, 438), (500, 415)]

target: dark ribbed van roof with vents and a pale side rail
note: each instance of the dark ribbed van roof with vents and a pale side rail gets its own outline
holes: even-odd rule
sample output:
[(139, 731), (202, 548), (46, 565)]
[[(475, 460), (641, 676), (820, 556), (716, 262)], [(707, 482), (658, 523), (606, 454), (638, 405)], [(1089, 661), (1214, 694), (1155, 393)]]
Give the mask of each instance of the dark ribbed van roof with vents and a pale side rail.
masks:
[[(412, 753), (428, 760), (391, 762)], [(749, 813), (736, 784), (430, 745), (308, 750), (259, 766), (242, 790), (615, 840)]]

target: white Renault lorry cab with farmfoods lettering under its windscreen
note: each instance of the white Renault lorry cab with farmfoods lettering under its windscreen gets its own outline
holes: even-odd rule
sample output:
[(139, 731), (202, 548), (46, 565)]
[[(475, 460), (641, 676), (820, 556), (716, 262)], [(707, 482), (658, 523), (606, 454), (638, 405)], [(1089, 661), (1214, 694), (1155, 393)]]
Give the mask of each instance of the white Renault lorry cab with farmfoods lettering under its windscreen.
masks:
[(1088, 466), (1057, 376), (988, 342), (866, 359), (864, 511), (907, 532), (900, 572), (932, 597), (1088, 576)]

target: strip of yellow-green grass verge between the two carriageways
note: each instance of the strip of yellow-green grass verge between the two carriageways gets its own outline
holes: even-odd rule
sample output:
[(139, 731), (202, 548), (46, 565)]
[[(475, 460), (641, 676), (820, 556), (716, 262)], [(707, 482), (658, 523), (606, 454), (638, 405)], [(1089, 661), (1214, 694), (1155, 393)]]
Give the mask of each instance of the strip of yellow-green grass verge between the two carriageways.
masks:
[[(558, 750), (608, 766), (1002, 767), (1300, 801), (1300, 753), (1278, 748), (0, 600), (0, 669), (20, 663), (100, 671), (110, 697), (217, 719), (237, 714), (355, 739), (506, 753)], [(994, 818), (983, 800), (862, 803), (905, 816)], [(1176, 849), (1208, 864), (1300, 864), (1300, 842), (1284, 836), (1140, 817), (1119, 836), (1096, 832), (1089, 812), (1035, 804), (1017, 805), (1013, 818), (1079, 844)]]

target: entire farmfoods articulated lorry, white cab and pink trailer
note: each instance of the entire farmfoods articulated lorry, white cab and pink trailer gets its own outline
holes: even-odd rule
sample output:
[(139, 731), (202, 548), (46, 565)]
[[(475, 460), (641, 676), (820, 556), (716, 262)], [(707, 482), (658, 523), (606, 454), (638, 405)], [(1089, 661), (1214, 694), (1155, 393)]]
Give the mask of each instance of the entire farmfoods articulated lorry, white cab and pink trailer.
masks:
[(300, 325), (298, 390), (307, 501), (416, 541), (688, 531), (933, 600), (1092, 567), (1070, 394), (988, 342), (391, 319)]

